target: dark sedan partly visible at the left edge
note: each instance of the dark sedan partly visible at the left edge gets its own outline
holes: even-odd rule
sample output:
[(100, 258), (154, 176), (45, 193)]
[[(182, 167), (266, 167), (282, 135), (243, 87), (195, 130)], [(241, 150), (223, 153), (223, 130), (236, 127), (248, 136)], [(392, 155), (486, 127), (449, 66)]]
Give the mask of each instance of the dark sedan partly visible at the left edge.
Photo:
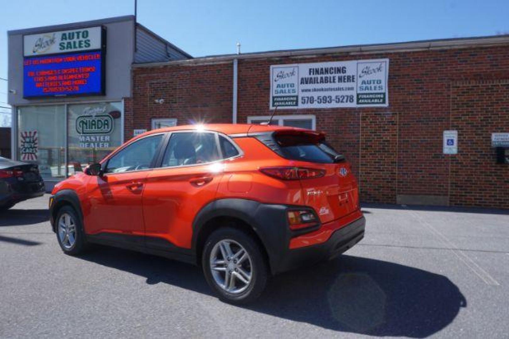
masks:
[(44, 194), (44, 181), (37, 165), (0, 157), (0, 211)]

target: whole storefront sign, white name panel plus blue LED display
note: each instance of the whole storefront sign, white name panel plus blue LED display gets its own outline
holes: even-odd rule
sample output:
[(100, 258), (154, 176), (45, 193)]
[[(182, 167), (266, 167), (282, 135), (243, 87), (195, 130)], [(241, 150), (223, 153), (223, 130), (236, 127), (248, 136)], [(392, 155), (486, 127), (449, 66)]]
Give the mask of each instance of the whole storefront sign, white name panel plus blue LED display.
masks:
[(23, 98), (105, 95), (105, 28), (23, 36)]

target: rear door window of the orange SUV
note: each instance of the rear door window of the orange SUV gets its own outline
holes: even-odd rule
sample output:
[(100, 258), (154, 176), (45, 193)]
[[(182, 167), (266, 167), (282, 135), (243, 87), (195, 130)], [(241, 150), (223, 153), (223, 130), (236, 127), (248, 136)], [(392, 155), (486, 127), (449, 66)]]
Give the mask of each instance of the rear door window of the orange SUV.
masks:
[(173, 133), (169, 138), (161, 166), (205, 164), (216, 160), (219, 160), (219, 154), (214, 133)]

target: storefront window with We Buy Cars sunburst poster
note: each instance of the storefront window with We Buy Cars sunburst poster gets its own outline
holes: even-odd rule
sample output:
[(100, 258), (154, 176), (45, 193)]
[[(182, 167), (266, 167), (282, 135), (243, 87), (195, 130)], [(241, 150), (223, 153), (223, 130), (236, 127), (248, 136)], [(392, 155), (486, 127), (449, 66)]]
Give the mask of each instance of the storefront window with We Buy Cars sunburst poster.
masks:
[(18, 159), (38, 164), (43, 178), (65, 178), (65, 106), (18, 108)]

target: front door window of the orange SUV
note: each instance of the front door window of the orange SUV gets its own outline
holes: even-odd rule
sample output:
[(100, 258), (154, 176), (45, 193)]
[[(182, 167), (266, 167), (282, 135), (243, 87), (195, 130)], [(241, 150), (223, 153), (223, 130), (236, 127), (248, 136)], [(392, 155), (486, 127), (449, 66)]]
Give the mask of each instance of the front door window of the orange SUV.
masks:
[(162, 137), (162, 134), (146, 137), (125, 147), (109, 159), (106, 173), (149, 169)]

